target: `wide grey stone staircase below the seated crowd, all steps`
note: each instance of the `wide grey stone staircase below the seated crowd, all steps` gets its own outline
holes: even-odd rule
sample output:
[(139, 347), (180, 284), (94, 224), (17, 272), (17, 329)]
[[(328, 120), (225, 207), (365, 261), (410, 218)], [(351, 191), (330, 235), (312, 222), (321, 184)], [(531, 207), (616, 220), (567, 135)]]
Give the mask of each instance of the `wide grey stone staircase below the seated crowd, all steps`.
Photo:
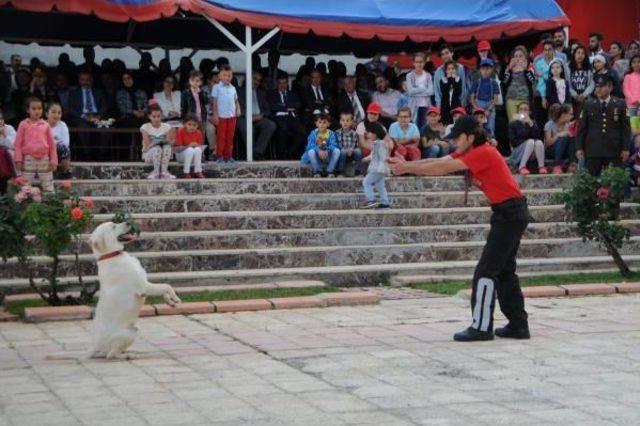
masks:
[[(466, 277), (480, 256), (491, 215), (477, 191), (463, 205), (464, 183), (457, 176), (391, 178), (392, 208), (362, 210), (361, 178), (313, 179), (294, 162), (208, 164), (211, 178), (204, 180), (149, 181), (148, 170), (137, 163), (79, 163), (74, 174), (80, 179), (73, 187), (93, 197), (97, 222), (111, 219), (118, 209), (131, 212), (143, 233), (129, 252), (140, 259), (150, 280), (174, 285), (297, 279), (363, 285)], [(565, 222), (557, 195), (569, 176), (518, 179), (532, 215), (520, 271), (612, 268), (603, 250), (583, 243), (575, 226)], [(623, 204), (621, 218), (633, 235), (623, 256), (640, 265), (638, 205)], [(95, 280), (88, 244), (81, 251), (84, 279)], [(62, 258), (63, 283), (76, 280), (72, 260)], [(41, 272), (48, 259), (34, 261)], [(23, 273), (9, 260), (0, 269), (0, 291), (25, 291)]]

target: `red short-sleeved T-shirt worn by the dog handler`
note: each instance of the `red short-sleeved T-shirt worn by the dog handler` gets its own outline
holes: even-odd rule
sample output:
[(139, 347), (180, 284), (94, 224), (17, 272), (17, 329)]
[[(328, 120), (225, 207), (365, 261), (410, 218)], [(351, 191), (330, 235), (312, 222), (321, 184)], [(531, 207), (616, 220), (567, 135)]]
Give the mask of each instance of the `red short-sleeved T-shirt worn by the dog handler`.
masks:
[(469, 168), (474, 185), (491, 204), (522, 197), (520, 187), (507, 163), (491, 145), (485, 143), (456, 157)]

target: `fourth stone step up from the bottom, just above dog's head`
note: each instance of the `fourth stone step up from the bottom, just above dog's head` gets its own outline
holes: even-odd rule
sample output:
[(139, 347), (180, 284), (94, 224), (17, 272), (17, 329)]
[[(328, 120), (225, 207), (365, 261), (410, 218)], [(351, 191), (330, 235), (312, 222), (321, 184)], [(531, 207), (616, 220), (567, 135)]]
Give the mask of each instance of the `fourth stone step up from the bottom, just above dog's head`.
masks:
[[(532, 206), (533, 222), (560, 222), (563, 206)], [(624, 203), (621, 219), (637, 217), (638, 204)], [(199, 231), (215, 229), (287, 229), (456, 225), (487, 223), (488, 207), (371, 210), (292, 210), (194, 213), (135, 213), (143, 231)], [(111, 220), (111, 214), (98, 214), (98, 222)]]

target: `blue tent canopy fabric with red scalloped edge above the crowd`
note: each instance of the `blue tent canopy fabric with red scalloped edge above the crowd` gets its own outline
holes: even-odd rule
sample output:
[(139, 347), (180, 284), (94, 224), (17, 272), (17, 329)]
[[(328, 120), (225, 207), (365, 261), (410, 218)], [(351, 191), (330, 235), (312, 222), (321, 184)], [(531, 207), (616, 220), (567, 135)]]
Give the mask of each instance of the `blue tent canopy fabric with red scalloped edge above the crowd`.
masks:
[(222, 22), (285, 33), (400, 42), (496, 39), (569, 25), (554, 0), (0, 0), (17, 9), (95, 14), (115, 22), (150, 21), (179, 9)]

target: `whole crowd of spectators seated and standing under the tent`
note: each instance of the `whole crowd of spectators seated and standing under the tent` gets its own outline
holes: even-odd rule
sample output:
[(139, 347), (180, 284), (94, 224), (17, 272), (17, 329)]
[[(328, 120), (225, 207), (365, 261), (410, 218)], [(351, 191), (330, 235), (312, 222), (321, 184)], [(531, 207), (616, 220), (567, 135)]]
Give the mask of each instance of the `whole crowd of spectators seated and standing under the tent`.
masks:
[[(336, 176), (349, 163), (366, 174), (372, 152), (378, 167), (384, 149), (407, 161), (444, 157), (455, 150), (448, 135), (453, 123), (473, 115), (521, 174), (562, 173), (580, 164), (598, 173), (611, 160), (627, 163), (637, 179), (639, 42), (605, 50), (601, 34), (583, 44), (567, 41), (559, 28), (540, 46), (538, 55), (525, 46), (497, 54), (483, 40), (468, 66), (445, 43), (433, 52), (437, 67), (423, 52), (404, 70), (376, 55), (354, 74), (342, 62), (309, 57), (295, 76), (278, 68), (279, 53), (271, 50), (265, 67), (254, 57), (258, 66), (243, 81), (251, 85), (251, 100), (224, 57), (197, 68), (184, 57), (172, 70), (168, 60), (156, 65), (142, 53), (139, 68), (128, 70), (118, 59), (97, 64), (89, 47), (78, 65), (67, 54), (56, 66), (37, 58), (26, 65), (14, 54), (0, 73), (0, 146), (25, 174), (41, 175), (59, 163), (68, 178), (70, 160), (130, 160), (135, 151), (154, 165), (150, 178), (172, 178), (171, 158), (184, 166), (180, 177), (199, 178), (205, 161), (243, 157), (251, 120), (255, 159), (302, 159), (314, 175)], [(627, 130), (609, 135), (607, 120), (609, 128), (626, 123)], [(105, 128), (135, 129), (140, 146), (132, 149), (126, 131), (99, 131)], [(607, 143), (605, 133), (621, 140), (613, 150), (610, 142), (598, 146)], [(376, 173), (384, 171), (380, 165)]]

